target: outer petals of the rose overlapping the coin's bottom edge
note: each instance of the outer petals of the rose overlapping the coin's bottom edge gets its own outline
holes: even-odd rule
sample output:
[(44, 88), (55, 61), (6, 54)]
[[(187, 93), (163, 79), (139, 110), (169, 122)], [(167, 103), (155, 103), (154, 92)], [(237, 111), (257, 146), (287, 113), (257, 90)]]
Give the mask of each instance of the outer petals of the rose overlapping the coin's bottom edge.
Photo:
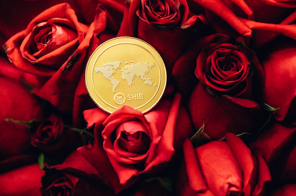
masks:
[[(140, 178), (137, 177), (139, 174), (152, 174), (163, 170), (165, 163), (172, 159), (175, 148), (178, 149), (178, 146), (181, 145), (185, 138), (189, 136), (189, 132), (191, 132), (189, 116), (180, 107), (180, 95), (176, 95), (173, 103), (167, 100), (161, 101), (160, 104), (144, 115), (130, 106), (123, 106), (112, 113), (102, 123), (102, 113), (99, 109), (84, 112), (89, 126), (95, 123), (96, 139), (94, 146), (89, 145), (88, 147), (79, 149), (79, 151), (107, 181), (110, 181), (109, 183), (112, 184), (116, 192), (134, 183), (135, 180)], [(145, 155), (147, 157), (143, 161), (141, 161), (142, 158), (140, 159), (142, 155), (135, 156), (131, 152), (124, 152), (123, 149), (119, 151), (118, 147), (115, 146), (116, 140), (113, 146), (114, 141), (111, 137), (112, 132), (115, 133), (115, 128), (120, 124), (126, 122), (132, 125), (132, 122), (135, 120), (142, 123), (146, 129), (144, 132), (147, 133), (151, 140), (150, 148), (147, 151), (147, 155)], [(101, 146), (101, 130), (103, 130), (104, 150)], [(91, 151), (93, 151), (93, 154), (100, 154), (101, 157), (106, 157), (107, 155), (107, 160), (104, 160), (105, 158), (103, 159), (105, 161), (104, 167), (110, 167), (112, 165), (117, 175), (110, 175), (110, 172), (105, 174), (107, 170), (102, 167), (104, 162), (99, 163), (96, 161), (96, 157), (89, 157)], [(107, 154), (105, 154), (105, 151)], [(127, 155), (133, 157), (127, 159)], [(110, 163), (108, 163), (109, 161)], [(141, 166), (143, 168), (138, 169), (136, 166), (133, 166), (136, 162), (143, 164)], [(118, 186), (118, 179), (120, 184), (122, 184), (120, 186)]]

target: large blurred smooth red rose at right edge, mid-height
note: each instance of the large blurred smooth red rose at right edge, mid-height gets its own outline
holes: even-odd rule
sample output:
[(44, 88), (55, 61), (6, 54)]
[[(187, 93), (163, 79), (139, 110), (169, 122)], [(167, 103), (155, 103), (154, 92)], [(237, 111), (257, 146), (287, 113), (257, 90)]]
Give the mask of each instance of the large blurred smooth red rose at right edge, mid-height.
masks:
[[(280, 44), (279, 44), (280, 43)], [(296, 42), (291, 39), (281, 39), (265, 52), (262, 65), (266, 73), (266, 103), (274, 108), (280, 108), (274, 117), (296, 123)]]

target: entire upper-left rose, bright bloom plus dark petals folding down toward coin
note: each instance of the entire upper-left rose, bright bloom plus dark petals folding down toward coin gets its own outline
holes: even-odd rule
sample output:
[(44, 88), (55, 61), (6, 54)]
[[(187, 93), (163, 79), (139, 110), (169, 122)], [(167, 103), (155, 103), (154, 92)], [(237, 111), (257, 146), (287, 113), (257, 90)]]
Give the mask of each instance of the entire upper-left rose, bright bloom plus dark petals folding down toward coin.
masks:
[(94, 33), (100, 37), (106, 27), (107, 16), (101, 5), (96, 17), (99, 23), (82, 24), (69, 4), (58, 4), (36, 16), (4, 44), (17, 69), (36, 75), (36, 81), (30, 83), (34, 93), (61, 111), (72, 111), (91, 37)]

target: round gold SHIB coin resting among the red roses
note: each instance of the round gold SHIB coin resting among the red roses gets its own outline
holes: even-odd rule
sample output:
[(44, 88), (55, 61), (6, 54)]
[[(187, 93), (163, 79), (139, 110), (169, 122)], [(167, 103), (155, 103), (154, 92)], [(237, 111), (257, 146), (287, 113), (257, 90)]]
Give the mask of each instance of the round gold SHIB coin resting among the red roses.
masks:
[(158, 52), (147, 42), (116, 37), (92, 53), (86, 65), (85, 83), (102, 110), (112, 113), (129, 105), (145, 113), (163, 95), (166, 70)]

